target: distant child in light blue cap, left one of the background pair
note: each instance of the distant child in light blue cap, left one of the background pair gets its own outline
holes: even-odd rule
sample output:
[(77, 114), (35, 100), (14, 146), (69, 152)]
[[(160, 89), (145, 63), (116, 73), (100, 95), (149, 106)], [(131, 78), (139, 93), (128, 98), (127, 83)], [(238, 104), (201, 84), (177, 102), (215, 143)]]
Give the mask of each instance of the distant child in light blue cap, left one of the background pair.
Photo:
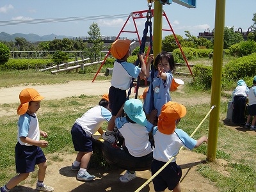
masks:
[(248, 92), (249, 88), (246, 86), (244, 80), (240, 79), (237, 81), (237, 87), (232, 93), (232, 102), (234, 104), (232, 122), (234, 124), (241, 124), (244, 126), (246, 97)]

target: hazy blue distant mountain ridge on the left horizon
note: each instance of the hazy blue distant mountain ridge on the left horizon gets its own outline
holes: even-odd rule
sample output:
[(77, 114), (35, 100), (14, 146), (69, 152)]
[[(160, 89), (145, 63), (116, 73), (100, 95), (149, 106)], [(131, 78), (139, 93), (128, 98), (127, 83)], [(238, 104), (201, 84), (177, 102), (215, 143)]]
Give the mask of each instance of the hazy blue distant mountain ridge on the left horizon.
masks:
[(55, 35), (55, 34), (39, 36), (39, 35), (36, 35), (36, 34), (33, 34), (33, 33), (29, 33), (29, 34), (15, 33), (13, 35), (10, 35), (10, 34), (5, 33), (5, 32), (0, 33), (0, 41), (6, 41), (6, 42), (13, 41), (14, 42), (15, 37), (26, 38), (26, 40), (28, 42), (52, 41), (55, 38), (58, 38), (58, 39), (73, 38), (73, 36)]

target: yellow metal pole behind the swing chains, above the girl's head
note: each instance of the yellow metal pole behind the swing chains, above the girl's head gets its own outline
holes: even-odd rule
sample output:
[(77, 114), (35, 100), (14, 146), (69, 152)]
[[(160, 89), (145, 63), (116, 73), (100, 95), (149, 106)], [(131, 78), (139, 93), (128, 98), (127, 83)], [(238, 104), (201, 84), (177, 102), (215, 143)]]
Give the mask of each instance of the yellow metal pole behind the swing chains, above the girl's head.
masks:
[(153, 21), (153, 50), (154, 57), (162, 51), (162, 23), (163, 23), (163, 4), (154, 1), (154, 21)]

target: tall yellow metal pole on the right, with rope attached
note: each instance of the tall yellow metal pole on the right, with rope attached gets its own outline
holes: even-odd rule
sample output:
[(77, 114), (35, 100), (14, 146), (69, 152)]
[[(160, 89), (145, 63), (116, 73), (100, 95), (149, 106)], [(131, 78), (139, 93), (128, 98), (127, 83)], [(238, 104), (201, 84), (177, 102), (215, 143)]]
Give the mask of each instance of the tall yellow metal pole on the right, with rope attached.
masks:
[(224, 25), (225, 0), (216, 0), (211, 90), (211, 106), (216, 106), (216, 110), (212, 111), (210, 115), (207, 145), (207, 161), (211, 162), (216, 161), (218, 140)]

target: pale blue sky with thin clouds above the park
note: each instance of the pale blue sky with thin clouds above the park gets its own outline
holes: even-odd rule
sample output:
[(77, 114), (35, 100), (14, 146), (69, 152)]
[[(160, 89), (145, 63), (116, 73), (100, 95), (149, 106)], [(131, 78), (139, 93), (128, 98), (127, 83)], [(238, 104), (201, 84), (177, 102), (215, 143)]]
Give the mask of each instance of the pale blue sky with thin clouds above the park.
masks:
[[(225, 27), (248, 31), (253, 25), (253, 13), (256, 13), (256, 0), (226, 0)], [(154, 9), (154, 3), (153, 7)], [(214, 29), (216, 0), (196, 0), (196, 8), (186, 8), (177, 3), (163, 5), (175, 35), (184, 36), (184, 31), (198, 36), (198, 33)], [(0, 1), (0, 33), (34, 33), (36, 35), (88, 36), (90, 25), (96, 22), (100, 34), (117, 36), (121, 29), (135, 31), (130, 13), (148, 10), (147, 0), (1, 0)], [(104, 17), (102, 17), (104, 15)], [(115, 15), (115, 17), (108, 17)], [(84, 18), (72, 20), (68, 18)], [(90, 18), (91, 19), (90, 19)], [(45, 22), (36, 24), (10, 24), (15, 20), (65, 20), (65, 22)], [(106, 19), (108, 18), (108, 19)], [(140, 38), (143, 36), (146, 19), (136, 19)], [(154, 25), (154, 19), (152, 19)], [(22, 23), (20, 21), (19, 23)], [(163, 17), (163, 29), (170, 29)], [(154, 34), (153, 34), (154, 35)], [(162, 36), (172, 35), (172, 31), (163, 31)], [(136, 33), (122, 32), (120, 37), (137, 38)], [(184, 36), (186, 38), (186, 36)]]

